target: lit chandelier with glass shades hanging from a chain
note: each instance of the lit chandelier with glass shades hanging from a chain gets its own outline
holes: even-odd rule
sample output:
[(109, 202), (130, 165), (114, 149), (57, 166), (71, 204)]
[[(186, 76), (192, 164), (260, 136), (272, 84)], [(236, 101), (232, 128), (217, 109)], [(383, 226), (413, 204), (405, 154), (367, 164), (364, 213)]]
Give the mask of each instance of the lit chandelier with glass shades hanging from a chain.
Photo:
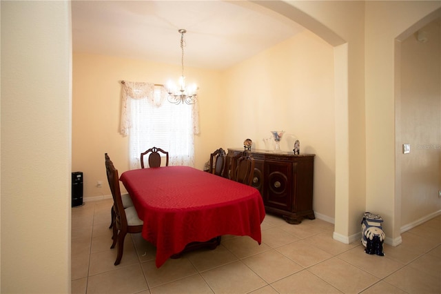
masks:
[(184, 34), (187, 32), (187, 30), (180, 29), (178, 32), (181, 34), (181, 50), (182, 50), (182, 58), (181, 58), (181, 65), (182, 65), (182, 75), (179, 78), (178, 87), (176, 87), (174, 84), (169, 82), (167, 84), (167, 92), (168, 92), (168, 101), (170, 103), (174, 104), (194, 104), (196, 102), (196, 90), (197, 86), (196, 84), (192, 86), (186, 86), (185, 85), (185, 76), (184, 76)]

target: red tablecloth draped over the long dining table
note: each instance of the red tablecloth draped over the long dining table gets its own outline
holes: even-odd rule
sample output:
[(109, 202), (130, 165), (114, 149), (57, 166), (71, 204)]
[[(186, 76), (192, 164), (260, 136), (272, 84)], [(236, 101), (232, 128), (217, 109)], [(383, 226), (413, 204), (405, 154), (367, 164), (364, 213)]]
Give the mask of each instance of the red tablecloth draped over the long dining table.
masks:
[(128, 170), (120, 177), (156, 246), (156, 266), (190, 242), (248, 235), (261, 242), (265, 208), (256, 188), (188, 166)]

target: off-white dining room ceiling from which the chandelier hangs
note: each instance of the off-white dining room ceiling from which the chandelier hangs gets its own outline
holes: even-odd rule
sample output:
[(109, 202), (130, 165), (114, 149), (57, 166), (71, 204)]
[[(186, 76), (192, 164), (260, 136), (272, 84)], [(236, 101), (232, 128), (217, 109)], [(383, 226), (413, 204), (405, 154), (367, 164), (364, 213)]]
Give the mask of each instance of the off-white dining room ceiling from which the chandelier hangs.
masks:
[(220, 70), (270, 48), (302, 26), (250, 1), (72, 1), (74, 52)]

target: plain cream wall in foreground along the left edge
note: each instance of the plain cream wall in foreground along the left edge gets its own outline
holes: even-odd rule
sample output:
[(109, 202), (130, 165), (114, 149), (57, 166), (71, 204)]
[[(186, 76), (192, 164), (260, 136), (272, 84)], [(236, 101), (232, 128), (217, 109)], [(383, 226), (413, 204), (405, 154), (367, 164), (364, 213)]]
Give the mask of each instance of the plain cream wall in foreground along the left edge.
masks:
[(1, 293), (70, 292), (67, 1), (1, 1)]

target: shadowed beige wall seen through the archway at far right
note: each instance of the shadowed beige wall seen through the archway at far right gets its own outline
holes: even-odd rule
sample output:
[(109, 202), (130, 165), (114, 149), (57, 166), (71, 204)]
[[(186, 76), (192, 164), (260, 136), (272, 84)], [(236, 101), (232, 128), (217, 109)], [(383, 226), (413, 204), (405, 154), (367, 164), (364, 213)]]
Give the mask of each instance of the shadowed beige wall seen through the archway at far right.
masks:
[(401, 226), (441, 210), (441, 28), (440, 19), (401, 44), (400, 144), (411, 144), (409, 154), (400, 153)]

